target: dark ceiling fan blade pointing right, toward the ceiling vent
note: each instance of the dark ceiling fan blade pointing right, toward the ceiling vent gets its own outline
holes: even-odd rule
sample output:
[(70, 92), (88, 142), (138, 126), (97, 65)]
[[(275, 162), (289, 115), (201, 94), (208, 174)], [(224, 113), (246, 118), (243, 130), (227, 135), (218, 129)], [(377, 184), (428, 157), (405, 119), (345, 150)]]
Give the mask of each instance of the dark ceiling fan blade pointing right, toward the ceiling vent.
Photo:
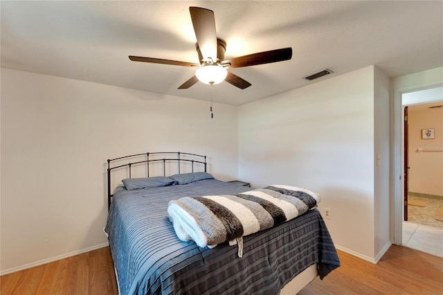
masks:
[(221, 64), (230, 64), (229, 68), (241, 68), (243, 66), (255, 66), (257, 64), (269, 64), (271, 62), (282, 62), (291, 60), (292, 48), (280, 48), (271, 51), (263, 51), (240, 57), (234, 57), (230, 60), (224, 60)]

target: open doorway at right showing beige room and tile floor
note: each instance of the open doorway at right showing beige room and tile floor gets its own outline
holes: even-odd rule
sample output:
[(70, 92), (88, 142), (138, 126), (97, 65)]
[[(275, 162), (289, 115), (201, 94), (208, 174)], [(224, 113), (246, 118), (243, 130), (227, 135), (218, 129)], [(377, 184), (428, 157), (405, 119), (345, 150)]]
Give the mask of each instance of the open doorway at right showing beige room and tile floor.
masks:
[[(435, 211), (443, 204), (443, 87), (401, 93), (402, 109), (402, 196), (401, 244), (443, 257), (443, 222)], [(432, 119), (432, 120), (431, 120)], [(426, 126), (426, 127), (425, 127)], [(431, 136), (421, 132), (435, 132)], [(422, 129), (424, 128), (424, 129)], [(424, 136), (424, 137), (423, 137)], [(435, 169), (437, 175), (435, 175)], [(396, 243), (397, 244), (397, 243)]]

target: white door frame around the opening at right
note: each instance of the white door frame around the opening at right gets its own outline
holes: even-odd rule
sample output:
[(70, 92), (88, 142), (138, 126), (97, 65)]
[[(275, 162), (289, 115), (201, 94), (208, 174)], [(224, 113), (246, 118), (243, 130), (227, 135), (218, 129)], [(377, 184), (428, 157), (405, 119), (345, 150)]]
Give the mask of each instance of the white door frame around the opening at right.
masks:
[[(404, 113), (403, 113), (403, 99), (404, 93), (426, 90), (435, 87), (442, 87), (442, 80), (435, 80), (433, 82), (426, 82), (415, 84), (414, 86), (401, 87), (394, 89), (394, 134), (393, 150), (390, 172), (391, 192), (390, 199), (390, 220), (391, 220), (391, 238), (393, 244), (401, 245), (401, 231), (404, 215)], [(424, 101), (433, 102), (433, 101)], [(392, 234), (393, 233), (393, 234)]]

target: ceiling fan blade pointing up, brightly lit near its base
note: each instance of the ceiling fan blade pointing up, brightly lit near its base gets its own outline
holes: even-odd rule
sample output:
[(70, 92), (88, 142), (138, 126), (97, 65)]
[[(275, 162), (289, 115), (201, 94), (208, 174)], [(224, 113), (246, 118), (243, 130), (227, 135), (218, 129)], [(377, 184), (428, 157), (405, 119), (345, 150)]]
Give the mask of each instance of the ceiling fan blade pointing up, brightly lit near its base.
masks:
[(191, 6), (189, 12), (201, 55), (204, 59), (210, 57), (213, 62), (217, 62), (217, 31), (213, 10)]

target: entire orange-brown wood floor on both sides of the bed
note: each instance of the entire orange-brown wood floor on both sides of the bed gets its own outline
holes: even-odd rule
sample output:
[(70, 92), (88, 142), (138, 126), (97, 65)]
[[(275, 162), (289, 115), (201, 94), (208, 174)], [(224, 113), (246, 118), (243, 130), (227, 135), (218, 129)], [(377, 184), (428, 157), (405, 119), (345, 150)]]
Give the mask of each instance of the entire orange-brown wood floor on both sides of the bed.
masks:
[[(299, 295), (443, 294), (443, 258), (392, 245), (377, 265), (338, 251), (341, 267)], [(109, 247), (1, 276), (1, 294), (117, 294)]]

